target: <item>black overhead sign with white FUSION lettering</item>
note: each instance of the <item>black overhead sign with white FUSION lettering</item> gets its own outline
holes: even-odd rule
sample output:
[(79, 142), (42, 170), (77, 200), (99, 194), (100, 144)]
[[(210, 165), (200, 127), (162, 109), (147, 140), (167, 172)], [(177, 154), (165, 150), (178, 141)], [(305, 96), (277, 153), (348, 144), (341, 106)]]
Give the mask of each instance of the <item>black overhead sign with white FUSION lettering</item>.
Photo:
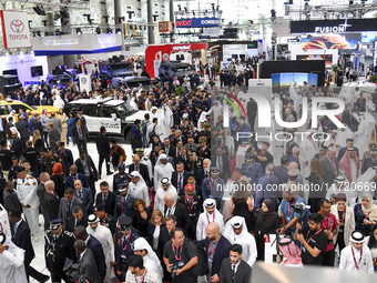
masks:
[(291, 33), (345, 33), (377, 31), (377, 19), (291, 21)]

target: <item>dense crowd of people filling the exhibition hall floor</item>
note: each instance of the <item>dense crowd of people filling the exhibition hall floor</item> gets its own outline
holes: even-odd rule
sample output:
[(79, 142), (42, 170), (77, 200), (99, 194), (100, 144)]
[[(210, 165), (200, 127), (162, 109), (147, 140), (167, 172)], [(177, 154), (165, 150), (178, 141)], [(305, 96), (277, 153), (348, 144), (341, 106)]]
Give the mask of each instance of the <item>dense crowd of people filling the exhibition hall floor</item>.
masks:
[[(247, 72), (225, 85), (232, 94), (237, 97), (246, 85)], [(106, 283), (249, 282), (256, 261), (272, 261), (265, 242), (273, 235), (282, 265), (376, 269), (377, 206), (375, 190), (368, 194), (367, 188), (376, 189), (377, 145), (363, 114), (358, 129), (347, 120), (363, 104), (358, 90), (339, 94), (347, 104), (340, 115), (346, 128), (320, 117), (317, 129), (305, 125), (302, 139), (285, 129), (287, 142), (277, 156), (268, 141), (236, 139), (240, 131), (258, 130), (253, 99), (241, 99), (246, 117), (232, 107), (230, 128), (223, 127), (223, 85), (185, 82), (179, 95), (169, 79), (132, 90), (112, 89), (100, 79), (94, 83), (89, 93), (73, 84), (52, 90), (41, 85), (20, 90), (13, 99), (28, 103), (33, 95), (37, 102), (43, 92), (47, 104), (54, 105), (57, 100), (114, 97), (145, 110), (144, 120), (131, 129), (132, 156), (104, 127), (99, 127), (95, 145), (88, 144), (81, 111), (28, 115), (20, 110), (0, 123), (0, 174), (6, 180), (0, 200), (11, 222), (11, 236), (0, 231), (0, 269), (7, 282), (50, 277), (30, 265), (32, 242), (41, 237), (40, 214), (52, 282), (74, 282), (77, 274)], [(303, 97), (322, 97), (322, 90), (306, 88), (294, 83), (286, 94), (275, 95), (281, 100), (275, 114), (297, 121)], [(330, 87), (326, 93), (334, 94)], [(324, 133), (330, 138), (318, 142), (315, 135)], [(99, 164), (88, 146), (98, 151)], [(241, 146), (246, 153), (237, 166)], [(72, 151), (79, 153), (77, 160)], [(101, 180), (103, 163), (112, 182)], [(246, 189), (234, 189), (227, 198), (228, 184)], [(361, 190), (349, 190), (353, 184)], [(279, 190), (268, 190), (272, 185)]]

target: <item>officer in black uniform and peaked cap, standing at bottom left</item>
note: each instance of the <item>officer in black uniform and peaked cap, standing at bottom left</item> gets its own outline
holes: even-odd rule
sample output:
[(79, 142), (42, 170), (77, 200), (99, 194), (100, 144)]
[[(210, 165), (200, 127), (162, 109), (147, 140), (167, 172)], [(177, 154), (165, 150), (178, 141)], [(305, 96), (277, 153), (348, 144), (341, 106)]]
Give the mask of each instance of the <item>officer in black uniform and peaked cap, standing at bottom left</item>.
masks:
[(50, 221), (50, 230), (44, 233), (44, 259), (45, 266), (51, 273), (52, 282), (70, 282), (63, 272), (65, 257), (75, 262), (74, 235), (63, 231), (63, 220), (55, 219)]

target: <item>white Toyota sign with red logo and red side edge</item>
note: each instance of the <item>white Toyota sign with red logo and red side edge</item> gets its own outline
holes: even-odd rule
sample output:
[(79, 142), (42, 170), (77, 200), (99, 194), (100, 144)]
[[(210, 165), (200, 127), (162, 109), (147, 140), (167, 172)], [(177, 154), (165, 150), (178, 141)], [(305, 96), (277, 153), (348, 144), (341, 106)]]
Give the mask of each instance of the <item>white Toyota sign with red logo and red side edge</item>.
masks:
[(29, 48), (30, 32), (28, 12), (0, 11), (4, 48)]

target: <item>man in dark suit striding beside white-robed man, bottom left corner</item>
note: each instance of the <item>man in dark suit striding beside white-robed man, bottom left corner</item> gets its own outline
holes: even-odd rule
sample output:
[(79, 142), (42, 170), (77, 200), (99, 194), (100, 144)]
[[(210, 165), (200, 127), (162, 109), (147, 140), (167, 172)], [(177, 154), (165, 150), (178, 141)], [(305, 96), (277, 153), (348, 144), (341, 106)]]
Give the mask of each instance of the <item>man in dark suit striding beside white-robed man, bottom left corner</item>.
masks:
[(38, 282), (47, 282), (50, 276), (47, 276), (34, 270), (30, 263), (35, 257), (34, 249), (31, 244), (30, 229), (27, 222), (21, 219), (21, 210), (13, 209), (9, 212), (9, 219), (12, 222), (11, 233), (12, 242), (20, 249), (24, 250), (24, 270), (27, 277), (32, 276)]

